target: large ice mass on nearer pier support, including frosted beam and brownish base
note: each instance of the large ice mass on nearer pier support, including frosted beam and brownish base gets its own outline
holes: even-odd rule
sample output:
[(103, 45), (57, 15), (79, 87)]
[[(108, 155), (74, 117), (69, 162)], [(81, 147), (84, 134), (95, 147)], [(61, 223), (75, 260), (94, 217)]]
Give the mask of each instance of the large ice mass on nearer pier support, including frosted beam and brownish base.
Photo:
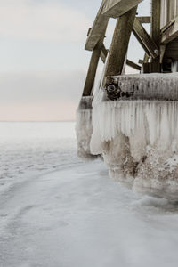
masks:
[(178, 76), (114, 77), (129, 99), (109, 101), (104, 89), (93, 100), (93, 154), (109, 174), (134, 190), (178, 198)]

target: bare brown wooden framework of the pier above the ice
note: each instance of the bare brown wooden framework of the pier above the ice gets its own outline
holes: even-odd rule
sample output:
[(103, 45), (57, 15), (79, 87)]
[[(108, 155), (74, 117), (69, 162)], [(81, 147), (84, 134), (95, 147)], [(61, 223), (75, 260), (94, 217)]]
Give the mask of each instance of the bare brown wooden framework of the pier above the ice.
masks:
[[(137, 8), (144, 0), (102, 0), (101, 7), (89, 28), (85, 50), (91, 51), (91, 61), (85, 79), (83, 96), (93, 95), (98, 62), (105, 63), (103, 87), (110, 77), (123, 74), (125, 63), (141, 73), (178, 71), (178, 0), (151, 0), (148, 16), (137, 16)], [(109, 19), (117, 19), (112, 42), (107, 49), (104, 38)], [(150, 33), (143, 27), (150, 23)], [(145, 52), (138, 62), (126, 58), (131, 33)]]

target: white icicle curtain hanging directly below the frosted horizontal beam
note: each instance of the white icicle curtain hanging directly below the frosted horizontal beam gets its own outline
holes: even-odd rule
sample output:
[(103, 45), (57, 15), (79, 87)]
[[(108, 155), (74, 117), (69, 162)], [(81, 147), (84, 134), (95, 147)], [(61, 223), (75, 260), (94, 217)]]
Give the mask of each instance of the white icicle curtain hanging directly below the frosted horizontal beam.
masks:
[(169, 146), (178, 141), (178, 102), (103, 101), (93, 105), (93, 131), (101, 142), (144, 132), (147, 144)]

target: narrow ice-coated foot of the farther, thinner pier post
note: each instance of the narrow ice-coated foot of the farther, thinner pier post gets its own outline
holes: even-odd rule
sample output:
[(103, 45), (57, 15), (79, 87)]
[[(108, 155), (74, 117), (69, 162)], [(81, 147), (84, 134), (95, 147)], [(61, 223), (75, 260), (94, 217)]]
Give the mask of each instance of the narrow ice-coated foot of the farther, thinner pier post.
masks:
[(77, 109), (77, 154), (80, 158), (95, 158), (90, 151), (93, 133), (92, 101), (93, 96), (83, 96)]

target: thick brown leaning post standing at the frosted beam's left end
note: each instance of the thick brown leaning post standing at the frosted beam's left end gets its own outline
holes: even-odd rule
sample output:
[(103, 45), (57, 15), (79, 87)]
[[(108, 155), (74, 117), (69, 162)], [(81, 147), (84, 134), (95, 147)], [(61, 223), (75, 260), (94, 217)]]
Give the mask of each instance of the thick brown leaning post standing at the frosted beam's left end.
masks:
[[(129, 39), (134, 25), (137, 5), (117, 19), (117, 25), (109, 50), (109, 57), (105, 69), (105, 77), (120, 75), (122, 73)], [(103, 84), (105, 85), (106, 79)]]

